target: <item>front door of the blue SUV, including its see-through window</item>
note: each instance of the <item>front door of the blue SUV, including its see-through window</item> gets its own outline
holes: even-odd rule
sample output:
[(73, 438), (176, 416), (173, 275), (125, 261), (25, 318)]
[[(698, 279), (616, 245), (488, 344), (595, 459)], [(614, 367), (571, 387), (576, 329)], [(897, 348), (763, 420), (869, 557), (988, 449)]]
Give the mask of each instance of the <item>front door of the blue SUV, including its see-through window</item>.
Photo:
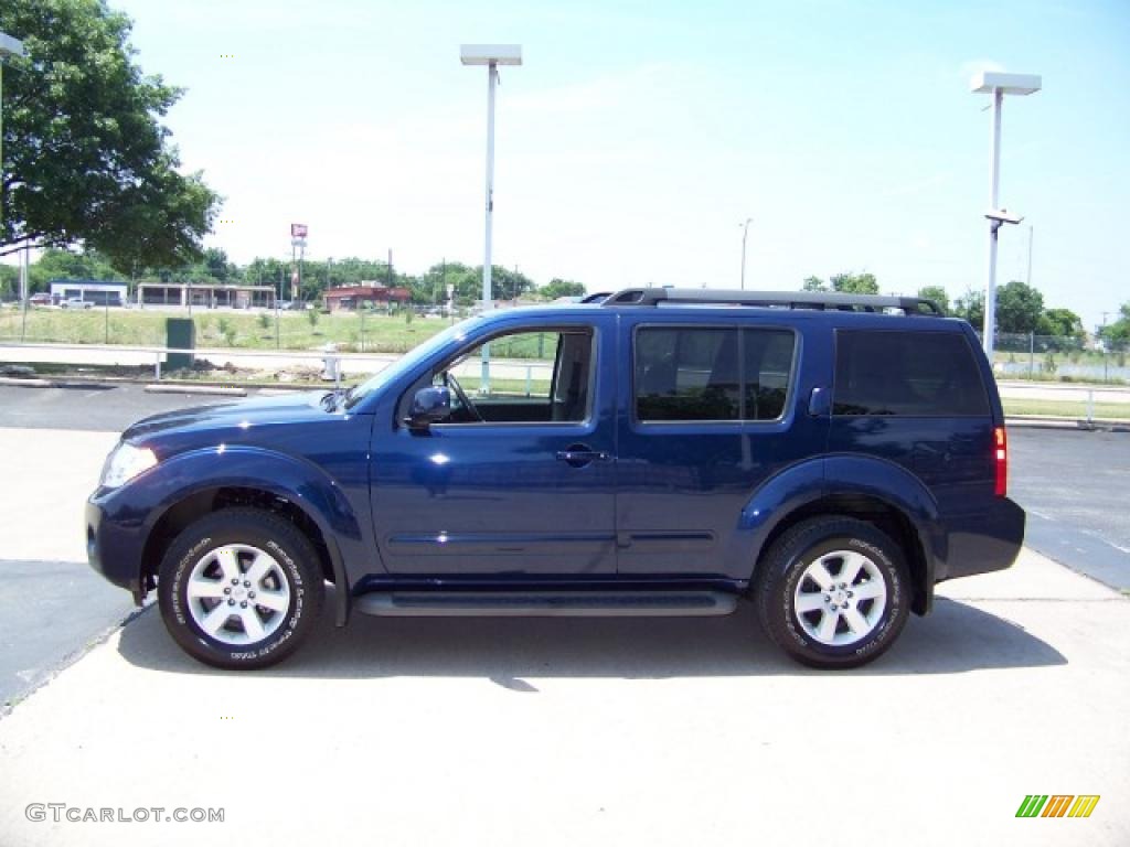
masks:
[(417, 376), (406, 399), (443, 384), (452, 412), (375, 439), (373, 521), (390, 571), (616, 573), (616, 377), (601, 367), (614, 358), (612, 320), (484, 328)]

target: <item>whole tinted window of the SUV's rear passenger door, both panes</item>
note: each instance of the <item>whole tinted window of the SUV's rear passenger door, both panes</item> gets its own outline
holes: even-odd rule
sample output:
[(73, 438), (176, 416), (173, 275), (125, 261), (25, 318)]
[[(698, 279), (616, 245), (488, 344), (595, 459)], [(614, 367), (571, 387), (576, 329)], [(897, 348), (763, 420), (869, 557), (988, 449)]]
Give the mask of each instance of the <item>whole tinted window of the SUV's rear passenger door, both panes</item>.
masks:
[(780, 418), (793, 348), (788, 330), (641, 326), (635, 334), (636, 419)]

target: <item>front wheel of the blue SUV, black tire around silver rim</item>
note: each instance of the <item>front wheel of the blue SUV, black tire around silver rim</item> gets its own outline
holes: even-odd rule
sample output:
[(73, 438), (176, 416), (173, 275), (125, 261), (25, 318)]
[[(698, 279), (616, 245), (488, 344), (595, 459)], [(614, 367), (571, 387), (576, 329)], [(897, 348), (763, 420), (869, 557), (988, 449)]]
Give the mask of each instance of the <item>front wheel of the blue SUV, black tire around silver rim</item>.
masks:
[[(234, 588), (228, 585), (231, 573), (220, 564), (219, 551), (224, 551), (227, 567), (234, 562), (240, 570), (232, 582)], [(258, 559), (255, 551), (267, 555), (261, 561), (269, 562), (263, 566), (269, 571), (255, 585), (238, 583), (253, 576), (250, 565)], [(194, 570), (198, 582), (193, 586), (207, 587), (193, 587), (193, 592), (225, 594), (190, 596)], [(261, 594), (258, 600), (266, 602), (271, 596), (278, 608), (259, 605), (257, 587)], [(228, 670), (267, 667), (294, 653), (314, 628), (325, 594), (321, 565), (310, 540), (289, 521), (254, 508), (216, 512), (185, 529), (165, 552), (157, 588), (160, 614), (173, 639), (193, 658)], [(234, 596), (233, 591), (237, 592)], [(224, 618), (221, 606), (231, 608), (231, 617)], [(215, 634), (202, 626), (209, 618), (225, 620)], [(264, 636), (257, 639), (249, 625), (262, 627)]]

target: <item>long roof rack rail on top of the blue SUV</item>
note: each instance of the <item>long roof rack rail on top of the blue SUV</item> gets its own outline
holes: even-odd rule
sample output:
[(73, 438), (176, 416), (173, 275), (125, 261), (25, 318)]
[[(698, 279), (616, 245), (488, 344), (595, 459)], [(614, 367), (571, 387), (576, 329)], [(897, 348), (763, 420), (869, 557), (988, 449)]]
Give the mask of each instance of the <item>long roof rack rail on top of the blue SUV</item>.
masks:
[(733, 291), (720, 288), (625, 288), (608, 297), (603, 305), (659, 306), (663, 303), (872, 313), (896, 308), (906, 315), (942, 314), (933, 300), (924, 297), (838, 291)]

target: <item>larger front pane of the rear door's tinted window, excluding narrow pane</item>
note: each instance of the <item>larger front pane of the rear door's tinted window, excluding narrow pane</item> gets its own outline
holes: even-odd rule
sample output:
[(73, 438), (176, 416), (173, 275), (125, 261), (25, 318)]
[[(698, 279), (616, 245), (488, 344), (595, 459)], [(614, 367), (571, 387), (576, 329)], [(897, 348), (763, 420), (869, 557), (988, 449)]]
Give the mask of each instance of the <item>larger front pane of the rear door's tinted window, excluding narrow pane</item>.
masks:
[(738, 420), (738, 331), (641, 328), (635, 392), (640, 420)]

